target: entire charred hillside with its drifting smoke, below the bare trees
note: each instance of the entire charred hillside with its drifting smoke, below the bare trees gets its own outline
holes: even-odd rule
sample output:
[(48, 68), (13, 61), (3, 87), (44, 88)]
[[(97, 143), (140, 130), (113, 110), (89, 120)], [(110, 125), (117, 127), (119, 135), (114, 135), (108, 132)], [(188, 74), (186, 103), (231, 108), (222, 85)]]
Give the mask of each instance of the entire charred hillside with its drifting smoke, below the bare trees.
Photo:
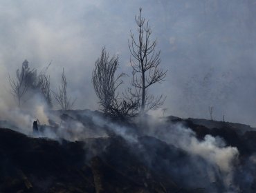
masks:
[(256, 132), (249, 126), (51, 114), (61, 124), (39, 125), (38, 134), (0, 129), (0, 192), (255, 192)]

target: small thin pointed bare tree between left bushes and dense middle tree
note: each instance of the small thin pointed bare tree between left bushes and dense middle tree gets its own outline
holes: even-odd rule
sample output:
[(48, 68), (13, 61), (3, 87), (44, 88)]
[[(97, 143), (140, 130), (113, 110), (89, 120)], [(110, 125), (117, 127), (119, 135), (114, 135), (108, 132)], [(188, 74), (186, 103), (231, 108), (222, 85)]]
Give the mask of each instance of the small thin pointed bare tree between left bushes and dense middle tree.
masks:
[(75, 100), (71, 100), (71, 97), (68, 97), (68, 94), (66, 92), (66, 76), (64, 74), (64, 68), (62, 70), (62, 83), (59, 86), (59, 88), (57, 89), (56, 92), (53, 92), (53, 95), (57, 101), (57, 103), (59, 103), (60, 107), (62, 108), (62, 110), (69, 110), (73, 107)]

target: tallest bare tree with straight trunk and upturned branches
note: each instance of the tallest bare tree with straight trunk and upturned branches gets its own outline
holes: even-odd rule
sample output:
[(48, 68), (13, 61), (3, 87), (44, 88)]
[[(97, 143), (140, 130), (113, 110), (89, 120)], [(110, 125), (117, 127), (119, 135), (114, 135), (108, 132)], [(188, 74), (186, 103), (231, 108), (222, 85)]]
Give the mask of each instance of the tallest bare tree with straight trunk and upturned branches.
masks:
[(133, 59), (130, 59), (132, 72), (131, 85), (134, 90), (131, 91), (139, 103), (140, 112), (144, 113), (147, 110), (156, 109), (163, 105), (165, 98), (163, 95), (155, 97), (153, 94), (148, 94), (148, 88), (154, 83), (161, 83), (165, 79), (166, 72), (159, 68), (161, 63), (160, 50), (155, 51), (157, 41), (151, 41), (152, 30), (149, 27), (149, 22), (145, 23), (145, 18), (140, 14), (135, 16), (135, 21), (138, 26), (138, 39), (131, 33), (131, 41), (129, 41), (129, 50)]

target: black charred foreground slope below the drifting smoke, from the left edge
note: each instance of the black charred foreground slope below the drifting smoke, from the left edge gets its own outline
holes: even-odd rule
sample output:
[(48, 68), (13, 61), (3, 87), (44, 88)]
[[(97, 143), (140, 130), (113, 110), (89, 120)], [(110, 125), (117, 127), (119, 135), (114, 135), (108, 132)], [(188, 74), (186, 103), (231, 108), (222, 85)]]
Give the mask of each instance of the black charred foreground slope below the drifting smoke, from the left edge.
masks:
[[(84, 142), (35, 139), (8, 129), (0, 130), (1, 192), (170, 192), (183, 188), (168, 177), (163, 168), (151, 170), (121, 137), (88, 139)], [(150, 137), (161, 159), (188, 156), (185, 152)], [(104, 150), (102, 150), (104, 148)], [(157, 149), (158, 149), (157, 148)], [(93, 155), (97, 150), (98, 155)], [(159, 163), (154, 161), (156, 167)], [(192, 192), (192, 190), (183, 190)]]

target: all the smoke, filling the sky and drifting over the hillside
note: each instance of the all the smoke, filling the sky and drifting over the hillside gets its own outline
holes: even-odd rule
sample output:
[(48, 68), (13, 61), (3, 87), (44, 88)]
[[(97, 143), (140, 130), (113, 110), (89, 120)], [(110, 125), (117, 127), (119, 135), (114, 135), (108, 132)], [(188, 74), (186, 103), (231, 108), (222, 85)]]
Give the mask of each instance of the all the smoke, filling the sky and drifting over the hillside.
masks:
[[(106, 45), (111, 53), (120, 54), (122, 71), (130, 74), (127, 39), (130, 30), (136, 32), (134, 15), (140, 6), (143, 16), (149, 19), (152, 34), (158, 38), (161, 68), (168, 70), (165, 83), (149, 88), (151, 93), (167, 96), (163, 109), (150, 112), (146, 120), (135, 120), (134, 125), (123, 125), (95, 112), (48, 110), (42, 96), (33, 93), (21, 109), (17, 108), (9, 92), (8, 74), (12, 77), (22, 61), (28, 59), (30, 68), (37, 69), (53, 60), (49, 70), (52, 90), (59, 85), (60, 69), (64, 67), (68, 93), (77, 99), (75, 108), (98, 109), (90, 85), (95, 60), (102, 45)], [(256, 99), (253, 1), (1, 1), (0, 8), (1, 120), (8, 120), (17, 126), (13, 129), (30, 136), (59, 141), (122, 136), (142, 151), (145, 147), (140, 136), (152, 136), (189, 154), (194, 163), (192, 176), (196, 168), (201, 168), (200, 171), (207, 171), (208, 186), (221, 176), (227, 192), (238, 191), (237, 148), (210, 135), (199, 140), (190, 128), (167, 123), (163, 116), (166, 113), (209, 118), (208, 106), (214, 106), (214, 119), (222, 120), (225, 115), (226, 121), (256, 124), (251, 105)], [(63, 113), (67, 116), (60, 117)], [(43, 129), (33, 135), (35, 120)], [(156, 155), (147, 157), (153, 161)], [(250, 170), (256, 170), (255, 156), (245, 165), (238, 172), (245, 176), (243, 188), (253, 183)], [(183, 172), (167, 171), (181, 179), (190, 171), (181, 167), (177, 170)], [(199, 183), (201, 178), (193, 177)], [(187, 183), (192, 185), (192, 179)]]

